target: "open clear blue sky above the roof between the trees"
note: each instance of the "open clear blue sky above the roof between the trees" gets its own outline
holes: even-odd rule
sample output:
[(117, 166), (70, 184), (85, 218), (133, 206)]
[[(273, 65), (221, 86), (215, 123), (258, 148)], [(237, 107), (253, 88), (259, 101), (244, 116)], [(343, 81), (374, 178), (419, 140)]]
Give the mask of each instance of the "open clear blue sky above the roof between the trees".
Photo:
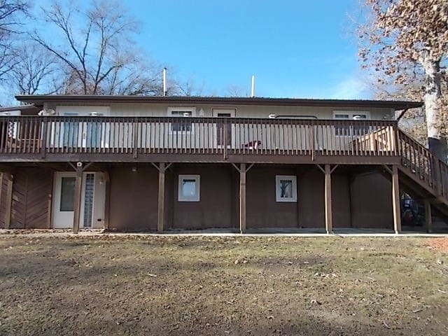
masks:
[[(126, 0), (141, 48), (203, 94), (365, 99), (349, 15), (356, 0)], [(174, 73), (173, 73), (174, 72)], [(169, 73), (170, 75), (170, 73)]]

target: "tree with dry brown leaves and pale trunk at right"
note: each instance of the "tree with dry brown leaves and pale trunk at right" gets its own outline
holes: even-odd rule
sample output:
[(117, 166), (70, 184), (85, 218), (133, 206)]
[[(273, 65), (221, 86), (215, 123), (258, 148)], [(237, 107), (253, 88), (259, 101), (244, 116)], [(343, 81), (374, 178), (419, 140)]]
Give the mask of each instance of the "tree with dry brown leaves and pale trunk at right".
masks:
[[(446, 0), (365, 0), (370, 20), (360, 27), (360, 57), (379, 81), (412, 87), (425, 103), (430, 151), (447, 160), (443, 63), (448, 52)], [(417, 80), (417, 81), (415, 81)]]

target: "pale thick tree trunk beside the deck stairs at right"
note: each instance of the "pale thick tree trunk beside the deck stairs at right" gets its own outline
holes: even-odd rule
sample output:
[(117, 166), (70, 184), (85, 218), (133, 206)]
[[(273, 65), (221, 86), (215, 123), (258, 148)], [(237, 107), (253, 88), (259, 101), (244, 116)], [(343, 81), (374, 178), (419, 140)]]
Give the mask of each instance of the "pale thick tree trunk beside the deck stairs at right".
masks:
[(425, 70), (426, 92), (423, 97), (425, 103), (426, 125), (428, 127), (428, 146), (440, 160), (447, 162), (447, 141), (442, 137), (440, 127), (440, 109), (442, 91), (440, 88), (440, 60), (423, 57), (421, 62)]

